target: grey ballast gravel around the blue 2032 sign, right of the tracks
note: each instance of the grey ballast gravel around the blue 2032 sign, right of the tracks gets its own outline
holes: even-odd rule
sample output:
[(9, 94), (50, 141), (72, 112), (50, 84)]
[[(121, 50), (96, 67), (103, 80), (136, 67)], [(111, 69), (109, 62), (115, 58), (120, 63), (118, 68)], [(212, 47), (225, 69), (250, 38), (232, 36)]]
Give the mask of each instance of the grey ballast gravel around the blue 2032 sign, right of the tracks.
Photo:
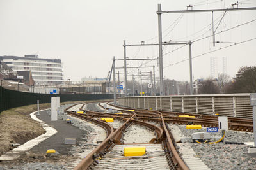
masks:
[[(186, 129), (185, 125), (177, 125), (186, 137), (191, 137), (194, 132), (206, 132), (202, 129)], [(253, 133), (226, 131), (225, 141), (243, 143), (253, 141)], [(221, 132), (211, 132), (211, 136), (222, 136)], [(248, 145), (223, 144), (223, 143), (184, 143), (195, 151), (198, 157), (210, 169), (256, 169), (256, 157), (248, 155)], [(180, 145), (182, 147), (182, 145)], [(178, 147), (179, 148), (179, 147)]]

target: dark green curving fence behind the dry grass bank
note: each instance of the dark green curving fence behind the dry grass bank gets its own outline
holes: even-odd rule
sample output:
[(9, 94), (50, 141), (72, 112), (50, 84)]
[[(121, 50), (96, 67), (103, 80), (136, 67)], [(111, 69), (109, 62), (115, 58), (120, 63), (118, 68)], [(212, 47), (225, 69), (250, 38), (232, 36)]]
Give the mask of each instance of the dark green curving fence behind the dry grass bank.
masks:
[(29, 104), (51, 103), (51, 97), (60, 96), (60, 101), (87, 101), (99, 99), (113, 99), (113, 94), (38, 94), (19, 92), (0, 87), (0, 113), (1, 111)]

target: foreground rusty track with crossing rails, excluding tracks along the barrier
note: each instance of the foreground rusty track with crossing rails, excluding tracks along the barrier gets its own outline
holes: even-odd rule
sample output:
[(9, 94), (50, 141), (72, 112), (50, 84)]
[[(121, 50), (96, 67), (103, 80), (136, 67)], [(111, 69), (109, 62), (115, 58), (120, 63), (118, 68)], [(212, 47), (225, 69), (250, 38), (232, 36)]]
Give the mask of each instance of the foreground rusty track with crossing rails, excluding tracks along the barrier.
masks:
[[(83, 106), (80, 110), (83, 110)], [(134, 167), (141, 169), (159, 169), (159, 167), (161, 169), (188, 169), (175, 150), (170, 132), (163, 125), (165, 124), (164, 120), (159, 124), (163, 127), (159, 127), (148, 122), (135, 120), (134, 117), (137, 113), (134, 111), (123, 111), (125, 117), (88, 110), (83, 110), (86, 114), (66, 111), (69, 115), (98, 124), (107, 131), (106, 139), (89, 153), (75, 169), (120, 169), (124, 167), (125, 169), (134, 169)], [(157, 114), (159, 113), (152, 112), (139, 113), (138, 115), (156, 117)], [(116, 125), (113, 129), (111, 124), (100, 120), (102, 117), (118, 120), (119, 127)], [(145, 147), (147, 153), (142, 156), (124, 157), (124, 148), (134, 146)]]

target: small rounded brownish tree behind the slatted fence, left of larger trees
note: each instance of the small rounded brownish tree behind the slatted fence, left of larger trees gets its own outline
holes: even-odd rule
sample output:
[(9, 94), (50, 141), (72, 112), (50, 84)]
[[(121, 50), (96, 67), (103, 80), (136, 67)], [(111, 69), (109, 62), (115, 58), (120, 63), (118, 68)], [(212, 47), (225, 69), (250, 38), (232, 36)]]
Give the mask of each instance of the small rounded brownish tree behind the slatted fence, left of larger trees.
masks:
[(198, 84), (198, 94), (219, 94), (220, 89), (215, 80), (207, 78)]

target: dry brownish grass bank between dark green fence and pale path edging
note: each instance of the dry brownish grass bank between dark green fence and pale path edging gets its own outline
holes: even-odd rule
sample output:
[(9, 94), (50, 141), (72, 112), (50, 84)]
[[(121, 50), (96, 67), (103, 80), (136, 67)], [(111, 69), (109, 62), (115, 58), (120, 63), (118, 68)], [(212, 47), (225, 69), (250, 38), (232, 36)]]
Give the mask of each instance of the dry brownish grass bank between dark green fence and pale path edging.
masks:
[[(81, 103), (65, 102), (63, 104)], [(40, 104), (40, 110), (50, 108), (50, 103)], [(31, 139), (45, 133), (38, 122), (31, 119), (30, 113), (37, 110), (37, 104), (12, 108), (2, 111), (0, 114), (0, 155), (12, 150), (12, 143), (22, 145)]]

